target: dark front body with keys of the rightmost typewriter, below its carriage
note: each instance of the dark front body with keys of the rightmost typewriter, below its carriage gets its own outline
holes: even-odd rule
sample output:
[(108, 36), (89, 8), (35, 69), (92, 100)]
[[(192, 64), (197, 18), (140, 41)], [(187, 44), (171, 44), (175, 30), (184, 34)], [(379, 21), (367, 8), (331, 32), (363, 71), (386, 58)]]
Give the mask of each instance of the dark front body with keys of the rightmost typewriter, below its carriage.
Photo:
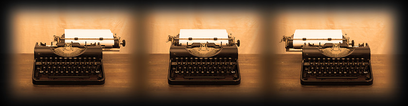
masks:
[(344, 57), (329, 57), (316, 47), (303, 48), (301, 84), (371, 85), (370, 48), (354, 48)]

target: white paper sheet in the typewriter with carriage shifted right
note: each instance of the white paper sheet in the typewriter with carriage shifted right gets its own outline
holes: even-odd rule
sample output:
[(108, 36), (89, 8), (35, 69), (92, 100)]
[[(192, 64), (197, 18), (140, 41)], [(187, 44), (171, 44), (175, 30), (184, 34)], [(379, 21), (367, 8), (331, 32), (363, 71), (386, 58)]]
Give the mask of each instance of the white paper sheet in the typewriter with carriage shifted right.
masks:
[(113, 33), (109, 29), (65, 29), (65, 38), (96, 38), (98, 40), (65, 40), (65, 42), (78, 42), (80, 45), (84, 46), (85, 42), (86, 45), (93, 44), (93, 43), (101, 43), (101, 45), (105, 46), (113, 46), (115, 44), (114, 40), (99, 40), (99, 38), (103, 39), (113, 39)]

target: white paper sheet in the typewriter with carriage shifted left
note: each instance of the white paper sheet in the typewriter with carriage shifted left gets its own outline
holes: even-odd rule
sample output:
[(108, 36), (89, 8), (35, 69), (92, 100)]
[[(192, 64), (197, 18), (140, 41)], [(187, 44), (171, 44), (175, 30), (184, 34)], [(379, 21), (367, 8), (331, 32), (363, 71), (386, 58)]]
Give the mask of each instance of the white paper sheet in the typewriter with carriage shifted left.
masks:
[[(300, 47), (306, 43), (314, 45), (324, 45), (324, 43), (339, 43), (342, 40), (327, 40), (331, 39), (342, 39), (341, 29), (296, 29), (293, 34), (293, 39), (303, 39), (306, 40), (293, 40), (293, 46)], [(326, 39), (326, 40), (307, 40), (307, 39)]]

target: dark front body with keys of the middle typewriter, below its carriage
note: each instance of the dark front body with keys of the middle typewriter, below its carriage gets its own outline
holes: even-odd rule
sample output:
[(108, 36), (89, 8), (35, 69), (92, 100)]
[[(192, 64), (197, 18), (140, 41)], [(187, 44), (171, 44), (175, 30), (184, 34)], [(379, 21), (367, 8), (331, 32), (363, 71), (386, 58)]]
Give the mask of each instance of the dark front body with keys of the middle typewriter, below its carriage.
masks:
[(237, 46), (223, 47), (211, 57), (197, 57), (183, 46), (171, 46), (168, 80), (171, 85), (238, 85)]

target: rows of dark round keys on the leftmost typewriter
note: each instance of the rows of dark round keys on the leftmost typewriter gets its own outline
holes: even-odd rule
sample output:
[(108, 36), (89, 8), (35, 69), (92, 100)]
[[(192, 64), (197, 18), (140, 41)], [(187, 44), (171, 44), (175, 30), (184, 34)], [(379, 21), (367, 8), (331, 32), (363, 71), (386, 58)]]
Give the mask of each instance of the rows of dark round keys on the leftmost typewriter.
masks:
[(34, 65), (37, 80), (101, 80), (101, 60), (95, 57), (40, 57)]

